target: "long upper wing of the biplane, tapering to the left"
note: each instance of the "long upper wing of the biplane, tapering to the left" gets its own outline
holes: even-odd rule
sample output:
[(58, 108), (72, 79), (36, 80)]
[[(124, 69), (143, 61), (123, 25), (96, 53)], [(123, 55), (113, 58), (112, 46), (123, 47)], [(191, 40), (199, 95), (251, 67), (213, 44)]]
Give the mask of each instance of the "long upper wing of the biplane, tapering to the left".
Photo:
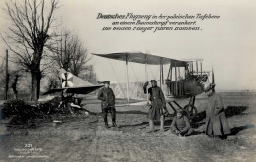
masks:
[(159, 64), (172, 64), (176, 67), (185, 67), (187, 65), (186, 61), (175, 60), (167, 57), (161, 57), (151, 54), (145, 54), (141, 52), (120, 52), (120, 53), (109, 53), (109, 54), (95, 54), (93, 55), (120, 60), (120, 61), (129, 61), (140, 64), (149, 64), (149, 65), (159, 65)]

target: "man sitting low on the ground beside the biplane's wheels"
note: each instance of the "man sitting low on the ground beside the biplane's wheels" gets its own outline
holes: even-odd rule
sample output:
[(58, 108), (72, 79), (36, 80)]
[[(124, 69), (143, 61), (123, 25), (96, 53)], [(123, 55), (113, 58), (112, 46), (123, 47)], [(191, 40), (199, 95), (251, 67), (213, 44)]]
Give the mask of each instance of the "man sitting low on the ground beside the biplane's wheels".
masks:
[(194, 131), (191, 128), (188, 118), (184, 115), (184, 111), (178, 110), (177, 116), (174, 117), (171, 125), (171, 132), (178, 136), (188, 136)]

